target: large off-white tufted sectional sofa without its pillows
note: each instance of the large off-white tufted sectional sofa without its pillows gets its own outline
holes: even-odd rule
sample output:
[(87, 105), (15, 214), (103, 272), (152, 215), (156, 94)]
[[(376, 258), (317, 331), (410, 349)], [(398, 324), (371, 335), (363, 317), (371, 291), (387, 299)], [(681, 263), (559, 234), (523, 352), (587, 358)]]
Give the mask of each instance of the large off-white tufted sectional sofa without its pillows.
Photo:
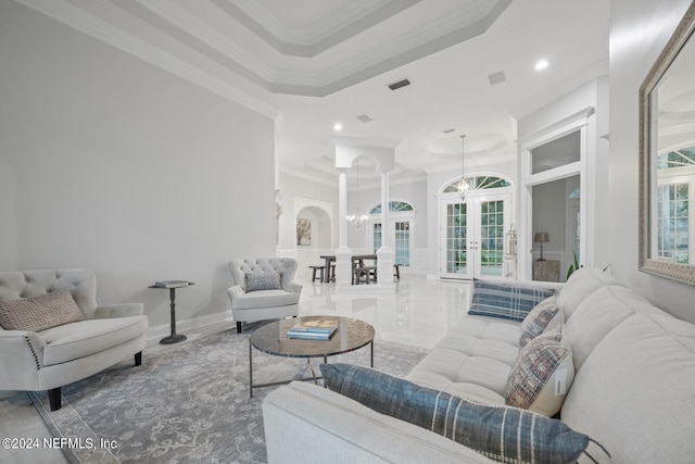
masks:
[[(559, 289), (557, 304), (573, 362), (559, 421), (605, 447), (614, 463), (693, 462), (695, 325), (594, 268), (576, 272)], [(520, 327), (467, 315), (406, 379), (503, 406)], [(270, 463), (493, 462), (309, 384), (292, 383), (268, 394), (263, 412)], [(580, 462), (592, 461), (582, 455)]]

